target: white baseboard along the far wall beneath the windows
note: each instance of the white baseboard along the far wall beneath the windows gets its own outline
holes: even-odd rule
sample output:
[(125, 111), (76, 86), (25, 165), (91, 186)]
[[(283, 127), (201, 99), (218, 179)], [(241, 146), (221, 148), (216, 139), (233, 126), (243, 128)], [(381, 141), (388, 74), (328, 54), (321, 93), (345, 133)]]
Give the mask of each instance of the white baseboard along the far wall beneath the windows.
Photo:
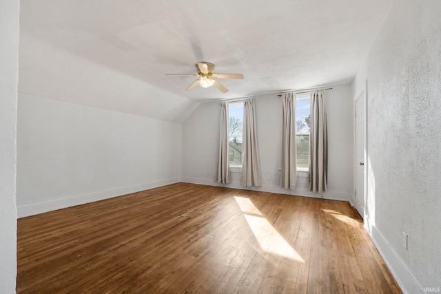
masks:
[(331, 200), (342, 200), (351, 202), (351, 194), (343, 193), (339, 191), (326, 191), (323, 193), (314, 193), (309, 191), (309, 189), (298, 187), (295, 190), (283, 189), (282, 187), (276, 185), (262, 185), (261, 187), (243, 187), (240, 185), (240, 182), (230, 182), (229, 184), (218, 184), (214, 182), (213, 179), (207, 178), (190, 178), (184, 177), (182, 178), (183, 182), (189, 182), (192, 184), (199, 185), (208, 185), (208, 186), (218, 186), (218, 187), (228, 187), (234, 189), (245, 189), (252, 191), (263, 191), (263, 192), (271, 192), (271, 193), (279, 193), (279, 194), (287, 194), (287, 195), (295, 195), (295, 196), (305, 196), (312, 198), (323, 198), (323, 199), (331, 199)]

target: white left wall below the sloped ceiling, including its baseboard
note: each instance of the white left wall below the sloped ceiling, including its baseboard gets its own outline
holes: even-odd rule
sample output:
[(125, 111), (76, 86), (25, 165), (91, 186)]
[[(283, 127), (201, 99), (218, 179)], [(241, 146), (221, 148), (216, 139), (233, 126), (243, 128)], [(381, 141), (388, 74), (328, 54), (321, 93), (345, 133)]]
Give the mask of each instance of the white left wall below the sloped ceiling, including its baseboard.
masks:
[(19, 217), (181, 181), (181, 124), (19, 93)]

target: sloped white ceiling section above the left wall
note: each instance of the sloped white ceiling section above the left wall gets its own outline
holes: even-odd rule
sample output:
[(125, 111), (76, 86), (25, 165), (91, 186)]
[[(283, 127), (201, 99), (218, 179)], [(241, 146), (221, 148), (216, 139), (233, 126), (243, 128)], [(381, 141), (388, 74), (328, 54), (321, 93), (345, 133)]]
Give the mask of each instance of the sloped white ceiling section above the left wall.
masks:
[(198, 102), (20, 35), (19, 92), (181, 123)]

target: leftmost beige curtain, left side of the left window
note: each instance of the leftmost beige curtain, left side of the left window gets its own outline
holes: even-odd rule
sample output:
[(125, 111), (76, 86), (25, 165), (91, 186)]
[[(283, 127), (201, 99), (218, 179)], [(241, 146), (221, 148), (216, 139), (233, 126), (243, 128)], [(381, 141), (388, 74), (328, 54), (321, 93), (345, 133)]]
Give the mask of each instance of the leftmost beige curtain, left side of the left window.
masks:
[(220, 184), (228, 184), (230, 182), (228, 158), (228, 102), (220, 103), (219, 157), (218, 169), (214, 181)]

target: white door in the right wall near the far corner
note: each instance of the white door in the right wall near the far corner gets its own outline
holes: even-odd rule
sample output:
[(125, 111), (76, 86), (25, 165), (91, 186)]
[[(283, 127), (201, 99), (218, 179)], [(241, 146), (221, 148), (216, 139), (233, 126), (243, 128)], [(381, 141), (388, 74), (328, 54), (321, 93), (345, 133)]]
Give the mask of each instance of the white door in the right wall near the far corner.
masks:
[(356, 209), (365, 218), (365, 93), (356, 100)]

